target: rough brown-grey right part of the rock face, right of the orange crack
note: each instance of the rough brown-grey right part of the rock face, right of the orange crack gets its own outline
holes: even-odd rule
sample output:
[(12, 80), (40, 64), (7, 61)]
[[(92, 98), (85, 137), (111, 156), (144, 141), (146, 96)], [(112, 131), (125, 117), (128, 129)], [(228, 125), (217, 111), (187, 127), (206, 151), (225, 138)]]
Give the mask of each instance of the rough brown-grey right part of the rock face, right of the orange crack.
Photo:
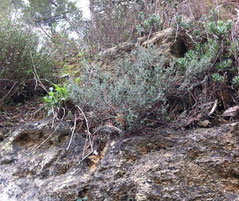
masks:
[(239, 200), (237, 124), (185, 133), (157, 132), (112, 147), (96, 170), (99, 201)]

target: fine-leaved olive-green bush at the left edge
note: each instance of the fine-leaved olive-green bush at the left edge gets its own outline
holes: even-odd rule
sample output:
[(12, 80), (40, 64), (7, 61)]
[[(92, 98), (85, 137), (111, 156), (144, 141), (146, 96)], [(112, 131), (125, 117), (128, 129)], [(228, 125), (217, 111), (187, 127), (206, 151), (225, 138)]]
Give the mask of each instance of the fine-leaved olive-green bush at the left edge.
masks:
[[(8, 88), (1, 92), (5, 96), (11, 88), (11, 83), (16, 83), (9, 95), (21, 94), (27, 83), (39, 79), (53, 77), (54, 61), (43, 49), (39, 49), (38, 38), (27, 27), (1, 19), (0, 22), (0, 81), (8, 80)], [(0, 83), (4, 85), (4, 83)], [(30, 86), (34, 89), (34, 86)]]

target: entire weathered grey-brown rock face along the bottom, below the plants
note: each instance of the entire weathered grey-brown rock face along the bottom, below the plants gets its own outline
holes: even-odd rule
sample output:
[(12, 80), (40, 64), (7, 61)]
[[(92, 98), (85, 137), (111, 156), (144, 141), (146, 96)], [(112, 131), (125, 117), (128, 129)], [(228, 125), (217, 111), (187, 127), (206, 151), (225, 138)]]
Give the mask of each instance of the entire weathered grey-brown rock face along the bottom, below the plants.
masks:
[(99, 162), (92, 156), (81, 165), (84, 139), (76, 135), (66, 151), (67, 128), (35, 152), (51, 133), (44, 121), (0, 143), (3, 201), (239, 200), (239, 123), (112, 141)]

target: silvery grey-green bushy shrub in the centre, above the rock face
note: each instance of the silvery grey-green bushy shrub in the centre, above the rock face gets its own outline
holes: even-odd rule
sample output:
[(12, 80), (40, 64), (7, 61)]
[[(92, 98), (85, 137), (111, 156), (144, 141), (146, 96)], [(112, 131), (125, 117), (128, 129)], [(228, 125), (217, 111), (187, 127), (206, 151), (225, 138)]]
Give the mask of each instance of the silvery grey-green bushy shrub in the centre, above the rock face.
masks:
[(160, 114), (167, 110), (166, 95), (177, 77), (174, 63), (165, 68), (167, 59), (154, 47), (139, 47), (130, 56), (119, 60), (112, 70), (86, 64), (80, 86), (70, 83), (75, 103), (128, 129), (148, 124), (150, 115), (162, 118)]

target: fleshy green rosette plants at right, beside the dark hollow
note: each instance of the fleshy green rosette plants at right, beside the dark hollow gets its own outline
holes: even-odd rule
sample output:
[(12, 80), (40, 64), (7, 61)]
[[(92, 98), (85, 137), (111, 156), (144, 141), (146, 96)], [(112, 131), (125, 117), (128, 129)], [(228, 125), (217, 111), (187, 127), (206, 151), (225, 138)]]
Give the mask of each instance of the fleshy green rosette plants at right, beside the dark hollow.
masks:
[(231, 56), (236, 53), (236, 43), (231, 44), (229, 40), (232, 21), (218, 19), (217, 13), (213, 10), (211, 15), (203, 16), (196, 23), (185, 20), (182, 16), (176, 18), (179, 32), (185, 33), (185, 37), (189, 36), (189, 40), (193, 42), (185, 56), (177, 60), (177, 67), (184, 76), (182, 89), (191, 90), (207, 78), (216, 83), (223, 83), (225, 80), (221, 74), (225, 72), (231, 74), (233, 65)]

